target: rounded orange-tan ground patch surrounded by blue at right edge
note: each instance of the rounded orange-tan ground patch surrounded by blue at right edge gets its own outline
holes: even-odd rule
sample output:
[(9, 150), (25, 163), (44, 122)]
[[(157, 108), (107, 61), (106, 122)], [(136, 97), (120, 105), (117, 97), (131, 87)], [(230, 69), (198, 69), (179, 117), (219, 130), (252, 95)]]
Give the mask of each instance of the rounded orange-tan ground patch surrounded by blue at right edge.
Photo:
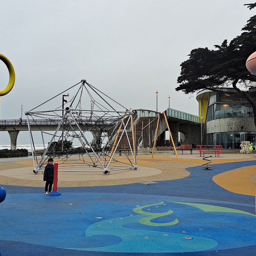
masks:
[(242, 167), (228, 172), (220, 173), (212, 180), (220, 187), (228, 191), (255, 196), (255, 183), (252, 176), (255, 176), (256, 166)]

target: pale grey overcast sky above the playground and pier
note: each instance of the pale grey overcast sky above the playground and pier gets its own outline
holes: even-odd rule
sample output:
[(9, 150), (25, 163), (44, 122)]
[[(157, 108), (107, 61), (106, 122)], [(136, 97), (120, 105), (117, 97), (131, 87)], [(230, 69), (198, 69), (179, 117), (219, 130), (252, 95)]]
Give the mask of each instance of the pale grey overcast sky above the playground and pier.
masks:
[[(85, 78), (128, 108), (170, 107), (198, 115), (196, 97), (176, 92), (192, 49), (241, 34), (253, 15), (244, 0), (2, 0), (0, 53), (16, 81), (1, 97), (0, 119), (24, 111)], [(0, 62), (0, 90), (8, 83)], [(60, 102), (61, 104), (61, 102)], [(49, 106), (50, 109), (50, 106)], [(25, 143), (22, 136), (18, 144)], [(25, 139), (24, 139), (25, 140)], [(27, 139), (26, 139), (27, 140)], [(10, 143), (0, 132), (0, 144)]]

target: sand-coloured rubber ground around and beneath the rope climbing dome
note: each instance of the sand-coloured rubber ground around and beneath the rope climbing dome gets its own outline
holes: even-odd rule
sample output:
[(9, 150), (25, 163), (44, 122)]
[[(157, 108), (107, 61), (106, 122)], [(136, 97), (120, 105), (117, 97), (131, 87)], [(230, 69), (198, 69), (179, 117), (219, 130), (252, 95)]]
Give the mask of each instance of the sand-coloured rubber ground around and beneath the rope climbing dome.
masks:
[[(220, 156), (221, 157), (211, 157), (212, 164), (255, 160), (253, 154), (221, 154)], [(116, 156), (116, 158), (125, 162), (124, 156)], [(56, 161), (59, 160), (60, 159), (56, 158)], [(151, 158), (149, 154), (144, 154), (137, 156), (137, 164), (139, 166), (137, 170), (114, 171), (110, 172), (108, 175), (104, 175), (102, 172), (59, 172), (58, 186), (109, 186), (144, 181), (182, 179), (190, 174), (186, 168), (202, 165), (204, 163), (205, 161), (199, 157), (199, 154), (179, 154), (179, 159), (176, 158), (173, 152), (172, 154), (166, 155), (157, 155), (156, 153), (153, 158)], [(59, 170), (63, 168), (69, 169), (69, 167), (61, 167), (60, 164)], [(81, 170), (81, 167), (73, 168)], [(92, 169), (92, 167), (90, 167), (90, 169)], [(95, 169), (100, 170), (98, 168)], [(44, 187), (45, 182), (43, 181), (41, 171), (39, 171), (38, 174), (34, 174), (32, 170), (32, 160), (0, 163), (0, 184)], [(253, 174), (255, 174), (255, 172)], [(249, 178), (253, 179), (251, 176)]]

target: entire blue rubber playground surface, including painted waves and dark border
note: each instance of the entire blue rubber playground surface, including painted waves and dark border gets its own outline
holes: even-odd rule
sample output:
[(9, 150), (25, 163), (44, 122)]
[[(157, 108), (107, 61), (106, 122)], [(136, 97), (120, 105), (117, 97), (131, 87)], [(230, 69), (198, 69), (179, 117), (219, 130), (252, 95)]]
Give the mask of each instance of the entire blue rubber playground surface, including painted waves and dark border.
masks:
[[(179, 180), (118, 186), (44, 188), (3, 185), (3, 256), (251, 256), (255, 197), (232, 193), (212, 177), (255, 161), (190, 167)], [(156, 181), (156, 180), (154, 180)], [(1, 185), (2, 186), (2, 185)]]

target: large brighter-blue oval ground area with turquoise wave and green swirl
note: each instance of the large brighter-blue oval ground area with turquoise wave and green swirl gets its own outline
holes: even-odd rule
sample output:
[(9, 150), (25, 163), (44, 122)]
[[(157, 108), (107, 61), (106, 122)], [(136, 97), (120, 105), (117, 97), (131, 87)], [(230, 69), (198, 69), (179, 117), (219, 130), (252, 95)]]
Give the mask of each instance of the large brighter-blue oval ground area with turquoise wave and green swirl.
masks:
[(8, 194), (3, 204), (0, 240), (5, 241), (117, 253), (212, 251), (256, 244), (255, 215), (250, 213), (254, 205), (233, 203), (244, 211), (239, 212), (228, 202), (115, 193), (63, 193), (56, 198)]

